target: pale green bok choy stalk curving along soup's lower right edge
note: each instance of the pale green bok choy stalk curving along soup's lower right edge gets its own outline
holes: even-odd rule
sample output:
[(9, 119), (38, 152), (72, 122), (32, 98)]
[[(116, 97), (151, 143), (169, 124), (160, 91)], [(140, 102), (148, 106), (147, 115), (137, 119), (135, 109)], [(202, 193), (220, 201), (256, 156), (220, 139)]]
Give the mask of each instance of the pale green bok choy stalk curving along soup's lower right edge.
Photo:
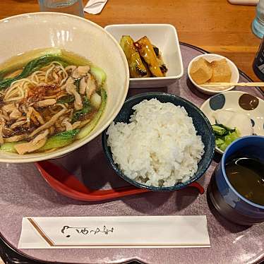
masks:
[(78, 133), (77, 135), (78, 139), (81, 139), (87, 136), (92, 131), (92, 129), (95, 128), (100, 117), (104, 113), (104, 109), (107, 105), (107, 91), (104, 89), (101, 90), (101, 98), (102, 98), (102, 103), (101, 103), (99, 111), (95, 114), (92, 121), (90, 121), (89, 124), (87, 124), (84, 128), (81, 129), (80, 133)]

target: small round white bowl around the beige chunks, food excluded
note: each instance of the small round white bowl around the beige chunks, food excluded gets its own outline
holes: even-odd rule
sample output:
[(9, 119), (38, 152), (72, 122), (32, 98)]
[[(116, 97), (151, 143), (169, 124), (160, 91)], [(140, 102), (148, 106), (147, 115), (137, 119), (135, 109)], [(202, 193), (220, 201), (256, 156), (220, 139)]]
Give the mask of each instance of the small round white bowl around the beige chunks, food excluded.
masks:
[(203, 92), (207, 95), (215, 95), (219, 92), (227, 92), (229, 90), (234, 89), (234, 86), (229, 86), (229, 87), (223, 87), (223, 88), (203, 88), (202, 86), (198, 85), (192, 78), (190, 75), (190, 71), (191, 71), (191, 64), (193, 64), (193, 61), (198, 61), (198, 59), (203, 58), (206, 59), (207, 61), (211, 62), (211, 61), (220, 61), (220, 59), (226, 59), (227, 60), (227, 64), (229, 65), (231, 71), (232, 71), (232, 76), (231, 76), (231, 83), (238, 83), (239, 82), (239, 70), (236, 67), (236, 65), (234, 64), (233, 61), (230, 61), (229, 59), (227, 59), (225, 56), (222, 55), (218, 55), (218, 54), (202, 54), (199, 56), (196, 56), (195, 58), (193, 58), (190, 63), (188, 64), (188, 78), (191, 80), (191, 83), (193, 83), (193, 85), (200, 91)]

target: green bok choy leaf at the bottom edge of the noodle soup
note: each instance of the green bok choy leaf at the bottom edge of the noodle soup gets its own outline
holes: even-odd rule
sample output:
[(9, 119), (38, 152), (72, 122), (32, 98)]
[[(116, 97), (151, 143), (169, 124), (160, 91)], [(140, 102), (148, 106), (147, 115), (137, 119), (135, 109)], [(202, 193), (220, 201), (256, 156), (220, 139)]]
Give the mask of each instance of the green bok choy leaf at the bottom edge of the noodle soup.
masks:
[(45, 145), (38, 151), (52, 150), (52, 148), (65, 147), (66, 145), (73, 143), (79, 131), (79, 129), (74, 129), (71, 131), (64, 131), (54, 136), (51, 136), (47, 139)]

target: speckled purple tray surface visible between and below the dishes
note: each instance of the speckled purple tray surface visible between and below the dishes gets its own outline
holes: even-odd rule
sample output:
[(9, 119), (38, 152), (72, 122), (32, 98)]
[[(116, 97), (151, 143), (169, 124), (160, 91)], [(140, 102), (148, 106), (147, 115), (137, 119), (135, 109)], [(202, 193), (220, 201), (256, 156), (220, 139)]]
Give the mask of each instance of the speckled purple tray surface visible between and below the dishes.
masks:
[[(184, 72), (188, 62), (202, 52), (181, 44)], [(241, 75), (240, 81), (247, 81)], [(130, 95), (160, 90), (180, 95), (200, 107), (208, 98), (198, 92), (186, 74), (174, 85), (164, 89), (133, 89)], [(246, 90), (241, 88), (241, 90)], [(255, 88), (247, 90), (263, 95)], [(83, 148), (56, 160), (73, 172), (85, 184), (95, 188), (125, 186), (110, 169), (104, 158), (101, 138), (97, 137)], [(215, 168), (213, 161), (200, 179), (207, 188)], [(0, 164), (0, 232), (17, 248), (22, 217), (27, 216), (104, 216), (104, 215), (206, 215), (211, 248), (109, 248), (109, 249), (20, 249), (31, 258), (57, 263), (121, 263), (138, 259), (145, 263), (256, 263), (264, 258), (264, 223), (241, 227), (227, 222), (208, 207), (206, 193), (195, 188), (169, 193), (144, 193), (104, 203), (72, 200), (52, 190), (42, 179), (34, 164)]]

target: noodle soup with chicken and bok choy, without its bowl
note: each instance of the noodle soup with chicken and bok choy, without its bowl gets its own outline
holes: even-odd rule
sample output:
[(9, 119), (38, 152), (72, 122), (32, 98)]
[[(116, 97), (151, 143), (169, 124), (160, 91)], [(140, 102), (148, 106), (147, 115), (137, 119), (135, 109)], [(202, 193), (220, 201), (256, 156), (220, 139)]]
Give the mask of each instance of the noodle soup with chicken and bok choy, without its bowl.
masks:
[(104, 79), (100, 68), (54, 55), (1, 76), (1, 150), (53, 151), (86, 136), (106, 104)]

